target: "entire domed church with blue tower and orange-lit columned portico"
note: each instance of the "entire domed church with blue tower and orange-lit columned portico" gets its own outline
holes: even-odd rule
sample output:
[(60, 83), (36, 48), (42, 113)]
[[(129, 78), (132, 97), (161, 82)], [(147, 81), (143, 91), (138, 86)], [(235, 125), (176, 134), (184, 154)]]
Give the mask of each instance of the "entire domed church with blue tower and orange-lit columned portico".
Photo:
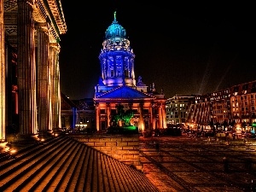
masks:
[(117, 105), (132, 109), (131, 125), (139, 131), (166, 128), (166, 98), (155, 91), (154, 84), (143, 84), (134, 73), (135, 55), (125, 28), (119, 25), (116, 12), (105, 32), (99, 55), (101, 74), (95, 86), (96, 130), (106, 131)]

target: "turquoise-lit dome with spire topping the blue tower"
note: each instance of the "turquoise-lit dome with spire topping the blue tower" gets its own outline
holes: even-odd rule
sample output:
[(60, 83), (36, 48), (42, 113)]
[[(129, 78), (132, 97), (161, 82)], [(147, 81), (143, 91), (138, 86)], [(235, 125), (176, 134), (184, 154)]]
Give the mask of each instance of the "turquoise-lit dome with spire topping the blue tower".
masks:
[(119, 25), (118, 21), (116, 20), (116, 11), (113, 13), (113, 22), (105, 32), (105, 38), (114, 38), (114, 37), (123, 37), (125, 38), (126, 31), (125, 28)]

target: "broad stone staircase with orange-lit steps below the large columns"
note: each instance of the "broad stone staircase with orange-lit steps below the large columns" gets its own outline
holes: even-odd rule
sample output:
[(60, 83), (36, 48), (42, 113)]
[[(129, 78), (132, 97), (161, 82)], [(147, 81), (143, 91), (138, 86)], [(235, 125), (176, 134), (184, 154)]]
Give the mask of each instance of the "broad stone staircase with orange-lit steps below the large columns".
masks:
[(73, 137), (50, 138), (4, 157), (0, 191), (159, 191), (143, 172)]

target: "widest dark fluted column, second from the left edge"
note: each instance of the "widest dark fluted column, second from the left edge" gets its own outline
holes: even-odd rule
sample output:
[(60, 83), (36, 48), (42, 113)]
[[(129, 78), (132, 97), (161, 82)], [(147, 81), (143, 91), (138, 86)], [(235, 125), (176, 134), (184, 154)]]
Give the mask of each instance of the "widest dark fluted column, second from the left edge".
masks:
[(37, 133), (36, 61), (32, 0), (18, 0), (19, 137)]

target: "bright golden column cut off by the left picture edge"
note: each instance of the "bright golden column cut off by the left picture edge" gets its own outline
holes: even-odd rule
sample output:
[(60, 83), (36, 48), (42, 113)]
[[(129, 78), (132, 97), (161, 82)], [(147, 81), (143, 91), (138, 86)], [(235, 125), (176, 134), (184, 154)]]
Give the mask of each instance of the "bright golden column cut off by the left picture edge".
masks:
[(3, 1), (0, 1), (0, 143), (6, 140), (5, 135), (5, 58), (4, 58), (4, 24)]

